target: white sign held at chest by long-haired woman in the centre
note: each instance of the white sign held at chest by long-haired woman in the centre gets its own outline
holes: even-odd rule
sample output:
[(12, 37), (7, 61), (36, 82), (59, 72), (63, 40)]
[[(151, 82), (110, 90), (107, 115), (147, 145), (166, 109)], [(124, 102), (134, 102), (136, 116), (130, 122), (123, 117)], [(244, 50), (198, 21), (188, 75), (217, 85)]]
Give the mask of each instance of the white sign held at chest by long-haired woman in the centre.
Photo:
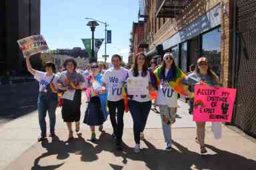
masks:
[(148, 95), (149, 81), (146, 78), (133, 77), (127, 79), (128, 95)]

